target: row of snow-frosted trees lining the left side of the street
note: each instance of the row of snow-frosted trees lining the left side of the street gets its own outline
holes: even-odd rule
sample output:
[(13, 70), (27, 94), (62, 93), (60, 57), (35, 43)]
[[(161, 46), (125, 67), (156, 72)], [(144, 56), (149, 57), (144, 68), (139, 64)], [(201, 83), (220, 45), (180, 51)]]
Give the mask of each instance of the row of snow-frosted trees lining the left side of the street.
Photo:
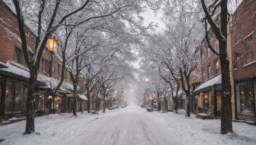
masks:
[[(63, 63), (61, 80), (51, 89), (54, 95), (64, 80), (65, 67), (70, 70), (73, 82), (73, 114), (76, 116), (76, 96), (79, 77), (86, 78), (88, 99), (97, 95), (100, 88), (104, 98), (109, 89), (121, 79), (131, 77), (129, 62), (136, 60), (132, 50), (140, 45), (147, 29), (138, 15), (143, 11), (142, 1), (127, 0), (13, 0), (19, 24), (22, 50), (30, 72), (26, 111), (26, 132), (35, 132), (35, 86), (38, 67), (47, 38), (53, 34), (58, 41), (57, 54)], [(33, 56), (28, 54), (25, 26), (36, 35)], [(96, 93), (92, 90), (96, 88)], [(90, 106), (90, 101), (88, 101)], [(88, 107), (90, 108), (90, 107)], [(89, 113), (88, 109), (88, 113)], [(105, 111), (105, 110), (104, 110)]]

